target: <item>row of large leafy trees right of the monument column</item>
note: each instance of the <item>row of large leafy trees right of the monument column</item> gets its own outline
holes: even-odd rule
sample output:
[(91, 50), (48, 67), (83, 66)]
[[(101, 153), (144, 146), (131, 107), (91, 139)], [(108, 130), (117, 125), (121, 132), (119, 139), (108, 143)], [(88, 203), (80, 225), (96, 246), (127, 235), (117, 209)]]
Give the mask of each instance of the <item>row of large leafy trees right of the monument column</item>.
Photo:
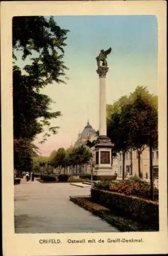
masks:
[(138, 174), (141, 177), (140, 158), (146, 147), (150, 152), (150, 176), (152, 178), (152, 150), (158, 145), (157, 96), (146, 87), (137, 87), (129, 96), (123, 96), (107, 105), (107, 134), (114, 143), (114, 152), (123, 155), (123, 179), (125, 155), (130, 149), (137, 151)]

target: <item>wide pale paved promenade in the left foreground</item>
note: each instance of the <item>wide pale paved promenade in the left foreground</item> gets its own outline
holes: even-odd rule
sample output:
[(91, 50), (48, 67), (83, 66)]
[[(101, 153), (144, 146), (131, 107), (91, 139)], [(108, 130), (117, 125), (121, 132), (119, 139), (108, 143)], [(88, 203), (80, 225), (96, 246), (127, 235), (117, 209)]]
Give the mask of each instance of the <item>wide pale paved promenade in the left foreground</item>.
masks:
[(22, 180), (14, 188), (16, 233), (118, 231), (69, 201), (69, 196), (89, 195), (90, 186)]

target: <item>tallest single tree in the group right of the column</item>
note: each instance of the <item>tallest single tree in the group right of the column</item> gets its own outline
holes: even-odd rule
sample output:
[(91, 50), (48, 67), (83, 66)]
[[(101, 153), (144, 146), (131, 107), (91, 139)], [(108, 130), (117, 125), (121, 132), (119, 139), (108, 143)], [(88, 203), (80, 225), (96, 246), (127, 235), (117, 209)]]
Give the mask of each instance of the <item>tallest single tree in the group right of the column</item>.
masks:
[(149, 130), (151, 131), (152, 125), (155, 126), (155, 129), (152, 129), (153, 138), (157, 137), (157, 97), (150, 94), (145, 87), (137, 87), (135, 92), (130, 95), (130, 103), (125, 107), (124, 116), (129, 121), (130, 144), (137, 151), (138, 174), (141, 177), (141, 154), (149, 146), (147, 134), (149, 134)]

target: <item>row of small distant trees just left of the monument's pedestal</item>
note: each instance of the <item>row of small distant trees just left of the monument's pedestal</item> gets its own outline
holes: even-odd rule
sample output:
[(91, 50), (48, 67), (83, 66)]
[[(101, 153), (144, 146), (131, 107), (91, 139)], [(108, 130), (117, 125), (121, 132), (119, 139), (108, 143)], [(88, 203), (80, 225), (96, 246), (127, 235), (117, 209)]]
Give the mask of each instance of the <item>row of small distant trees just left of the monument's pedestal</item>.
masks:
[(49, 157), (35, 157), (34, 158), (34, 172), (53, 172), (54, 168), (63, 170), (63, 173), (67, 173), (68, 167), (76, 167), (76, 174), (78, 173), (78, 166), (87, 164), (91, 159), (91, 153), (88, 147), (81, 145), (79, 147), (70, 147), (65, 150), (59, 148), (57, 151), (53, 151)]

